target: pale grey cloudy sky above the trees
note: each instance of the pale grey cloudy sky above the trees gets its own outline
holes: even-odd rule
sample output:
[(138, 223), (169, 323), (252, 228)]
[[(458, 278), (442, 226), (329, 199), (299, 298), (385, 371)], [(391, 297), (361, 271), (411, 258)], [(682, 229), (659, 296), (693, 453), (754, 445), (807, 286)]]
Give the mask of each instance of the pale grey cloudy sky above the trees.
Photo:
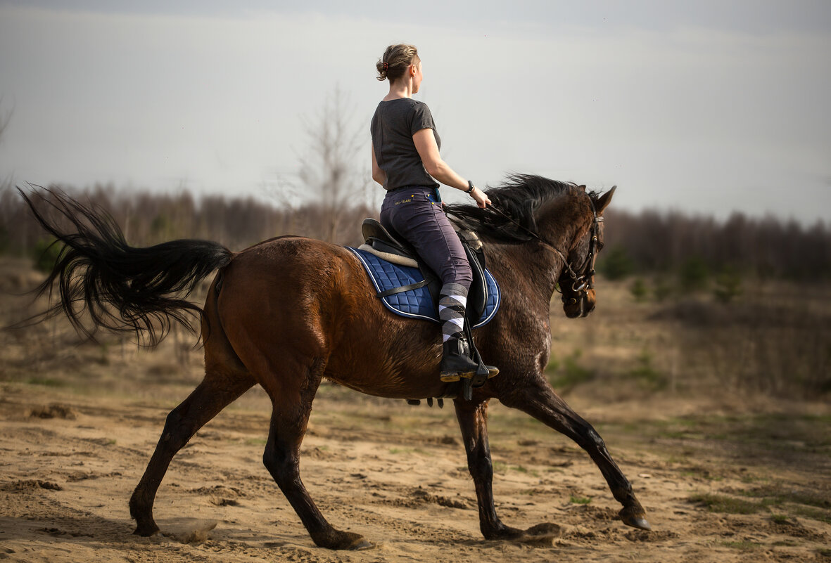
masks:
[(0, 0), (0, 179), (262, 196), (335, 91), (368, 170), (393, 42), (419, 48), (416, 97), (479, 185), (827, 222), (827, 0)]

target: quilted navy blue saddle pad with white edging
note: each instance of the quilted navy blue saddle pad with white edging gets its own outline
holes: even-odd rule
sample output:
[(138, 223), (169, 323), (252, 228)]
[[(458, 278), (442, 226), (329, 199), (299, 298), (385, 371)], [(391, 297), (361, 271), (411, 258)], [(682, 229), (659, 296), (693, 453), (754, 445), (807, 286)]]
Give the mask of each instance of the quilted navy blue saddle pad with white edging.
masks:
[[(418, 268), (399, 266), (386, 262), (371, 252), (359, 248), (347, 247), (361, 261), (369, 274), (376, 292), (408, 286), (424, 280)], [(484, 271), (485, 281), (488, 284), (488, 298), (485, 301), (484, 312), (473, 328), (484, 326), (494, 318), (499, 309), (499, 285), (488, 270)], [(396, 315), (407, 316), (412, 319), (439, 322), (438, 306), (433, 302), (427, 286), (418, 287), (409, 291), (401, 291), (390, 296), (381, 297), (384, 306)]]

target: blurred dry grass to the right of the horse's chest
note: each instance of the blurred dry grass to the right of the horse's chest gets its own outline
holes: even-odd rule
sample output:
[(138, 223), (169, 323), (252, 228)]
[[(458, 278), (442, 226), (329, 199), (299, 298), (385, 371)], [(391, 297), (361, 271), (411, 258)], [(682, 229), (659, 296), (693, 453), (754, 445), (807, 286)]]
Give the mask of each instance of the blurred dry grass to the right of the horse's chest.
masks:
[(587, 319), (566, 321), (552, 303), (548, 373), (565, 394), (578, 387), (605, 400), (831, 394), (829, 286), (756, 282), (724, 304), (711, 294), (640, 302), (627, 282), (597, 285)]

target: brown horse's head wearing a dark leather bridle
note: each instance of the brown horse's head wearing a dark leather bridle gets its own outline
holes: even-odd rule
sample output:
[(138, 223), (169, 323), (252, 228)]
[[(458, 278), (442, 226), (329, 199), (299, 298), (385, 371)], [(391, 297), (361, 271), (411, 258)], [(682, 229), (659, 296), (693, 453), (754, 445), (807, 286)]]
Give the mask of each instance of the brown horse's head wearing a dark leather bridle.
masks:
[[(581, 186), (583, 191), (585, 187)], [(566, 255), (558, 279), (563, 295), (563, 311), (568, 318), (587, 316), (594, 310), (597, 298), (594, 292), (594, 262), (603, 247), (603, 210), (612, 201), (615, 188), (602, 195), (588, 193), (588, 208), (576, 231), (572, 246)]]

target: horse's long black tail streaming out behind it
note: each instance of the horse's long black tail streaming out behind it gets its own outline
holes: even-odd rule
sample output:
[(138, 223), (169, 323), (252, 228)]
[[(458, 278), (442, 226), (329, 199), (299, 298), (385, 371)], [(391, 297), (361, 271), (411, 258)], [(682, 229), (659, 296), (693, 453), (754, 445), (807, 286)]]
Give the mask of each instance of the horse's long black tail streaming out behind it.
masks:
[[(218, 242), (201, 240), (130, 247), (104, 209), (86, 207), (57, 190), (46, 190), (51, 197), (38, 193), (37, 197), (71, 223), (70, 232), (64, 232), (38, 211), (26, 193), (17, 191), (37, 222), (57, 239), (53, 244), (63, 244), (52, 272), (35, 290), (38, 296), (48, 292), (51, 298), (57, 280), (60, 299), (51, 302), (47, 311), (33, 318), (35, 321), (63, 311), (72, 325), (88, 336), (103, 327), (135, 332), (140, 341), (156, 345), (167, 335), (171, 321), (191, 328), (189, 315), (201, 316), (202, 309), (184, 297), (204, 277), (227, 266), (233, 256)], [(84, 311), (94, 327), (83, 323)]]

